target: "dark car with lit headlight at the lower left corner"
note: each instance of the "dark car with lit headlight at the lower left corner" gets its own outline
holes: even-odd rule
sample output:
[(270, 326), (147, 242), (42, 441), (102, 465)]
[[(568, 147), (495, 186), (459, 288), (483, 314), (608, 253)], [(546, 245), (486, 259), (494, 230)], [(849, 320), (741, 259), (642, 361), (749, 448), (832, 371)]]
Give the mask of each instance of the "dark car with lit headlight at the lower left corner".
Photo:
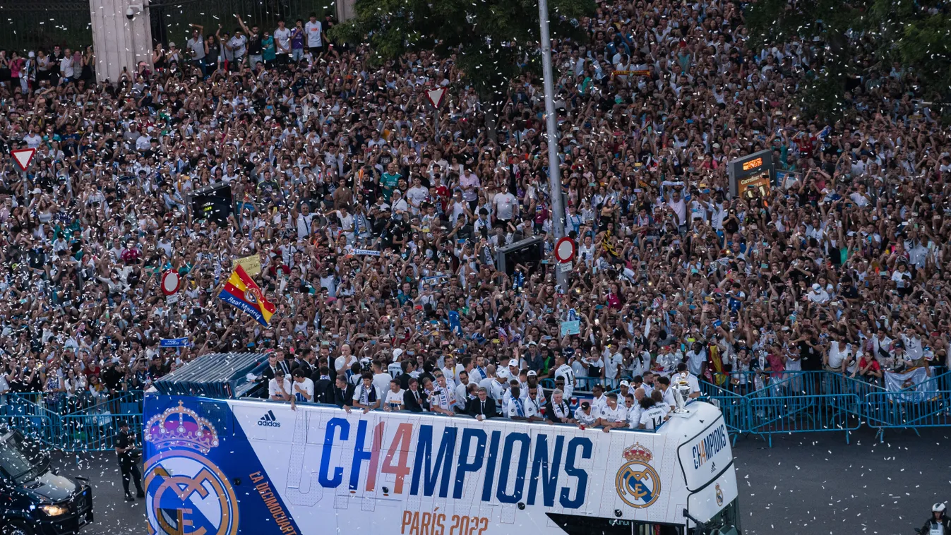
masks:
[(92, 523), (87, 480), (49, 468), (49, 454), (0, 428), (0, 535), (64, 535)]

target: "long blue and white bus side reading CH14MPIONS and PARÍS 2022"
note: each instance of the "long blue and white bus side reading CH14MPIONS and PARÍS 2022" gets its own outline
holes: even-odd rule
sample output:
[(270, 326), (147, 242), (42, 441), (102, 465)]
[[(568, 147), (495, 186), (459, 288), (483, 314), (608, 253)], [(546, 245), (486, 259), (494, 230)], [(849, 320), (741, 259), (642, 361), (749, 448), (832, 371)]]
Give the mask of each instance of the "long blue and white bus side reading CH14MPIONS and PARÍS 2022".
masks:
[(146, 418), (150, 533), (554, 534), (687, 503), (663, 432), (151, 395)]

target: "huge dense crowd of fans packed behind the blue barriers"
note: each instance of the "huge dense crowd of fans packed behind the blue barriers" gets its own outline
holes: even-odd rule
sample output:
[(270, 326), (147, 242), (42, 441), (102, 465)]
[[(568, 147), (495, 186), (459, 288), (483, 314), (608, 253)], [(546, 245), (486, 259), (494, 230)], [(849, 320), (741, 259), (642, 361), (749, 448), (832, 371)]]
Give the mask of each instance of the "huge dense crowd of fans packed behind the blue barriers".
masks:
[[(272, 396), (342, 377), (358, 408), (368, 392), (412, 409), (406, 392), (454, 391), (489, 417), (483, 393), (537, 400), (545, 378), (561, 380), (546, 405), (597, 383), (623, 406), (643, 389), (633, 378), (665, 384), (682, 365), (741, 387), (757, 371), (876, 381), (943, 365), (951, 154), (920, 73), (869, 64), (843, 118), (808, 116), (795, 96), (825, 44), (748, 48), (741, 8), (598, 4), (578, 21), (587, 41), (553, 44), (557, 162), (533, 74), (487, 117), (453, 56), (372, 67), (316, 16), (196, 26), (110, 84), (90, 48), (5, 54), (0, 394), (60, 404), (147, 388), (199, 354), (271, 351), (308, 364)], [(423, 95), (436, 87), (438, 114)], [(37, 151), (26, 174), (19, 147)], [(730, 196), (727, 162), (764, 149), (772, 186)], [(215, 184), (234, 201), (226, 219), (190, 202)], [(578, 244), (567, 287), (555, 219)], [(544, 262), (497, 269), (500, 247), (532, 237)], [(218, 298), (252, 256), (276, 306), (266, 326)], [(174, 302), (168, 270), (184, 279)], [(562, 332), (569, 317), (578, 334)], [(180, 337), (189, 347), (160, 347)], [(389, 370), (422, 379), (378, 381)], [(454, 410), (436, 398), (429, 410)]]

